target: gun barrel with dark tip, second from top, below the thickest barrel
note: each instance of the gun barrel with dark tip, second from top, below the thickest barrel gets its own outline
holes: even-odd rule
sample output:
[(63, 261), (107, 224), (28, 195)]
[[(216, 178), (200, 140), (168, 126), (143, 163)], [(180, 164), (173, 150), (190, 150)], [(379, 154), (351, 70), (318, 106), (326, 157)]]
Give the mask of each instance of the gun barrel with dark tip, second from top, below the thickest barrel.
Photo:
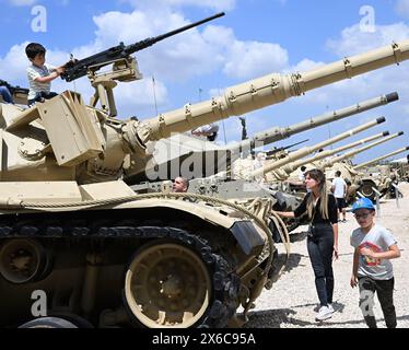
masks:
[(387, 105), (394, 101), (398, 101), (399, 95), (397, 92), (393, 92), (378, 97), (370, 98), (366, 101), (359, 102), (352, 106), (336, 109), (332, 112), (325, 113), (320, 116), (312, 117), (304, 121), (288, 126), (288, 127), (274, 127), (266, 131), (256, 133), (253, 138), (238, 142), (238, 144), (233, 145), (233, 151), (235, 150), (253, 150), (257, 147), (262, 147), (269, 143), (273, 143), (283, 139), (287, 139), (295, 133), (300, 133), (306, 130), (314, 129), (316, 127), (341, 120), (343, 118), (363, 113), (379, 106)]

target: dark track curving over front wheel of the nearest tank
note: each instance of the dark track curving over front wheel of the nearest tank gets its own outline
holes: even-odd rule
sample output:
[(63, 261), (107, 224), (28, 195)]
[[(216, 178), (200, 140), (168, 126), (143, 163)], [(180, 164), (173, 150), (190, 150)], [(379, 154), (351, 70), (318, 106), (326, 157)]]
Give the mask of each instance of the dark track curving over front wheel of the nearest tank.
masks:
[[(15, 219), (14, 219), (15, 220)], [(13, 220), (13, 221), (14, 221)], [(114, 220), (86, 220), (87, 225), (75, 225), (65, 220), (47, 220), (42, 222), (36, 219), (16, 220), (10, 224), (0, 221), (0, 242), (2, 238), (138, 238), (151, 241), (167, 238), (188, 246), (196, 252), (210, 271), (213, 282), (213, 299), (208, 313), (196, 327), (222, 328), (234, 316), (237, 308), (237, 295), (239, 293), (241, 280), (235, 275), (227, 260), (212, 252), (209, 240), (198, 234), (190, 234), (185, 230), (170, 226), (130, 226), (130, 225), (106, 225), (107, 221)], [(84, 221), (84, 220), (81, 220)], [(124, 222), (124, 220), (121, 220)], [(130, 221), (128, 220), (128, 224)], [(42, 224), (37, 224), (42, 222)], [(105, 224), (104, 224), (105, 223)], [(125, 222), (124, 222), (125, 223)]]

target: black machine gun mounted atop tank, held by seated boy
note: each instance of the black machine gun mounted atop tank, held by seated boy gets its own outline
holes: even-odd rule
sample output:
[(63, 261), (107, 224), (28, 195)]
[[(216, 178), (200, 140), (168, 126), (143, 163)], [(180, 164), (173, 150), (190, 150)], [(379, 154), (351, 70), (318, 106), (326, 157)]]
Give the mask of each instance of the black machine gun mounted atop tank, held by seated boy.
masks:
[(178, 30), (168, 32), (163, 35), (159, 35), (155, 37), (150, 37), (147, 39), (143, 39), (141, 42), (125, 46), (124, 43), (120, 43), (117, 46), (114, 46), (112, 48), (108, 48), (105, 51), (95, 54), (93, 56), (90, 56), (87, 58), (81, 59), (81, 60), (71, 60), (68, 63), (66, 63), (66, 71), (61, 74), (61, 79), (66, 80), (67, 82), (77, 80), (81, 77), (84, 77), (87, 74), (90, 68), (93, 70), (101, 69), (102, 67), (108, 66), (113, 62), (115, 62), (118, 59), (127, 59), (130, 55), (143, 50), (147, 47), (152, 46), (153, 44), (156, 44), (159, 42), (162, 42), (171, 36), (177, 35), (182, 32), (188, 31), (192, 27), (196, 27), (198, 25), (201, 25), (203, 23), (210, 22), (214, 19), (221, 18), (224, 15), (224, 12), (214, 14), (210, 18), (207, 18), (204, 20), (201, 20), (199, 22), (195, 22), (189, 25), (185, 25)]

